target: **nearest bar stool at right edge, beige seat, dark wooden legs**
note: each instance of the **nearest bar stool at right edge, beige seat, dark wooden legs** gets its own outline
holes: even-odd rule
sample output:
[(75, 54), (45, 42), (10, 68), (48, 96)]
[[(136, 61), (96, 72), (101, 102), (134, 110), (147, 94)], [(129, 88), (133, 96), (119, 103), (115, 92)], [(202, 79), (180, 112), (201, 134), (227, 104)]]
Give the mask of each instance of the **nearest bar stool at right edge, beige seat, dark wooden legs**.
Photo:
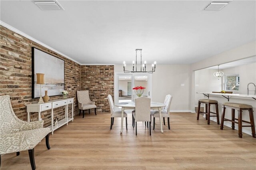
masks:
[[(223, 130), (224, 121), (232, 122), (232, 129), (235, 129), (235, 123), (238, 124), (238, 137), (242, 138), (242, 127), (251, 127), (252, 128), (252, 137), (256, 138), (255, 134), (255, 125), (254, 125), (254, 117), (253, 117), (253, 109), (251, 105), (241, 104), (241, 103), (223, 103), (222, 116), (221, 116), (221, 124), (220, 129)], [(225, 110), (226, 108), (232, 109), (231, 116), (232, 120), (225, 118)], [(238, 110), (238, 119), (235, 118), (235, 109)], [(250, 116), (250, 122), (242, 120), (242, 111), (248, 110)], [(236, 121), (238, 122), (236, 122)], [(250, 125), (243, 126), (242, 123), (248, 123)]]

